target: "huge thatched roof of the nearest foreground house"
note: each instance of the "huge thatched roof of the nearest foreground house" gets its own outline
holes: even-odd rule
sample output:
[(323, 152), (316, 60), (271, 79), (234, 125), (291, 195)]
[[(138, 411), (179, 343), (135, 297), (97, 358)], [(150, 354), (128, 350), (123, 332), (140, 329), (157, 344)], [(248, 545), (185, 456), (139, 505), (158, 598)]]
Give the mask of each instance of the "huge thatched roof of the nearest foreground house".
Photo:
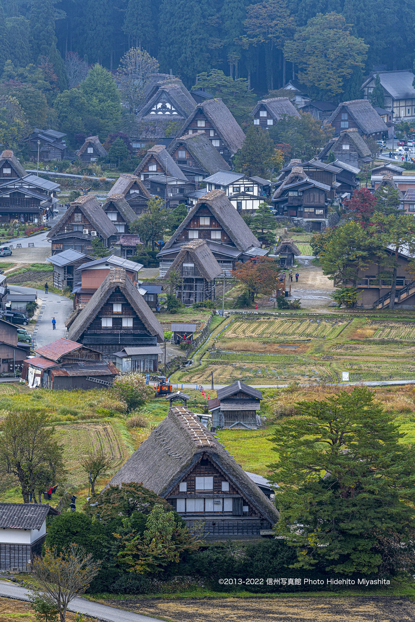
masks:
[(185, 406), (170, 408), (166, 419), (110, 480), (109, 485), (142, 482), (167, 498), (170, 491), (207, 455), (258, 513), (275, 524), (278, 512), (213, 434)]

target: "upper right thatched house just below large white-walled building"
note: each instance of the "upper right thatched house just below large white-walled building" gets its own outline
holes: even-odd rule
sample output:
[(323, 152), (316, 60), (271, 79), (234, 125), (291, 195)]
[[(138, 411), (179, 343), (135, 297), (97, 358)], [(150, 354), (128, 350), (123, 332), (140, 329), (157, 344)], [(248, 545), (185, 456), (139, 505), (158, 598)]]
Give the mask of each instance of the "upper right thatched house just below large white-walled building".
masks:
[(374, 141), (388, 136), (385, 121), (382, 121), (368, 100), (343, 101), (324, 124), (334, 128), (335, 136), (340, 136), (343, 129), (357, 129), (360, 136)]

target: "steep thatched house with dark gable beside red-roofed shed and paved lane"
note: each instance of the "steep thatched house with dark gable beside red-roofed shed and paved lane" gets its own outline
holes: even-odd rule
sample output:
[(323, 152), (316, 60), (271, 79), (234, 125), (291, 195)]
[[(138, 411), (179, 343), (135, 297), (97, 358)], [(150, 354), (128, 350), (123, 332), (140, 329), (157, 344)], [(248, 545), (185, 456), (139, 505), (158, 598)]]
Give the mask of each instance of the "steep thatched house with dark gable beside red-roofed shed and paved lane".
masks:
[(126, 269), (113, 267), (73, 320), (68, 338), (115, 360), (115, 353), (124, 346), (163, 343), (164, 331)]

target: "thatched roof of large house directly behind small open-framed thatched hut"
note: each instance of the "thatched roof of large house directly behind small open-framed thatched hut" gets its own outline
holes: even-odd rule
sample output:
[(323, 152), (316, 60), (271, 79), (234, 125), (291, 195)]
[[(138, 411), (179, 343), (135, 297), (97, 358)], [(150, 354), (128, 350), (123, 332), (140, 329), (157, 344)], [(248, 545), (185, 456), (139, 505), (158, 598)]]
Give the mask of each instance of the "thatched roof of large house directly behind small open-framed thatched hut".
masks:
[(177, 228), (175, 233), (164, 246), (163, 250), (173, 246), (175, 241), (179, 238), (180, 233), (182, 233), (185, 227), (190, 223), (201, 205), (207, 205), (209, 210), (212, 212), (212, 215), (215, 216), (218, 223), (221, 227), (223, 227), (229, 238), (235, 244), (236, 248), (240, 251), (247, 251), (251, 248), (251, 246), (258, 248), (261, 246), (258, 239), (256, 239), (252, 231), (249, 229), (245, 220), (243, 220), (242, 216), (235, 210), (235, 207), (233, 207), (228, 197), (226, 197), (225, 192), (223, 192), (223, 190), (212, 190), (200, 198), (196, 205), (192, 207), (182, 224)]

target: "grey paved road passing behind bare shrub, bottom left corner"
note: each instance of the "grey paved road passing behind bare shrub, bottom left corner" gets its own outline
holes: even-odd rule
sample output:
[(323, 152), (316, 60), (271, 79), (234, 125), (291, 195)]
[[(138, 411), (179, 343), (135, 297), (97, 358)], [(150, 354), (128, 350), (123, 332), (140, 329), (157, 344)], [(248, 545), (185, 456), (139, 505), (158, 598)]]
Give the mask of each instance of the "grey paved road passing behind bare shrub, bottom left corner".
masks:
[[(16, 583), (1, 580), (0, 596), (29, 600), (26, 588), (16, 585)], [(91, 603), (85, 598), (74, 598), (70, 603), (69, 610), (79, 611), (83, 615), (93, 616), (105, 622), (161, 622), (159, 618), (149, 618), (149, 616), (143, 616), (140, 613), (132, 613), (100, 603)]]

